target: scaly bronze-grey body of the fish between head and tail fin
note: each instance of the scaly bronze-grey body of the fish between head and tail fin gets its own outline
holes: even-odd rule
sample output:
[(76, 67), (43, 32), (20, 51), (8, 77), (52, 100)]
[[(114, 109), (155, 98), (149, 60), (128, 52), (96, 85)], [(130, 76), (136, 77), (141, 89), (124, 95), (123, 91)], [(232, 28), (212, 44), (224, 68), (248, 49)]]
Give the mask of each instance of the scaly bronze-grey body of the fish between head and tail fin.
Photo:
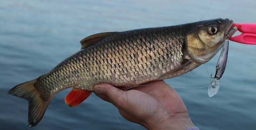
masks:
[(182, 47), (187, 30), (170, 26), (107, 36), (41, 76), (36, 82), (41, 86), (38, 89), (50, 90), (51, 93), (42, 92), (47, 98), (69, 87), (93, 90), (96, 84), (111, 83), (127, 88), (157, 80), (183, 62)]

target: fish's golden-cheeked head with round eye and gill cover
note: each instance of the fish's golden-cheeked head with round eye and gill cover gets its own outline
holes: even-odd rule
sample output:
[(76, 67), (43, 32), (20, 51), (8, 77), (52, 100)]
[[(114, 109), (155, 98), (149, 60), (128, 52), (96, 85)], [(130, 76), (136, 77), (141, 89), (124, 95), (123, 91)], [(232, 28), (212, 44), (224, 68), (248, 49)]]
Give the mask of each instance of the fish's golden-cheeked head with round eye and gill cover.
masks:
[(234, 21), (211, 19), (192, 23), (186, 35), (186, 52), (196, 62), (208, 62), (223, 46)]

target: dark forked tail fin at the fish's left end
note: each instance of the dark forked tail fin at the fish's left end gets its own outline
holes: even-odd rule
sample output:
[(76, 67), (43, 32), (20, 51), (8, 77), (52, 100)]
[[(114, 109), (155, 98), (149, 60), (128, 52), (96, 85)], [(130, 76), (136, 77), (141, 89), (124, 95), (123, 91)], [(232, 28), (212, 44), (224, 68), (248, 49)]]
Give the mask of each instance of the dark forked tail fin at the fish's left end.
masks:
[(33, 127), (43, 118), (50, 99), (43, 100), (36, 90), (36, 81), (31, 80), (13, 87), (8, 94), (28, 100), (28, 126)]

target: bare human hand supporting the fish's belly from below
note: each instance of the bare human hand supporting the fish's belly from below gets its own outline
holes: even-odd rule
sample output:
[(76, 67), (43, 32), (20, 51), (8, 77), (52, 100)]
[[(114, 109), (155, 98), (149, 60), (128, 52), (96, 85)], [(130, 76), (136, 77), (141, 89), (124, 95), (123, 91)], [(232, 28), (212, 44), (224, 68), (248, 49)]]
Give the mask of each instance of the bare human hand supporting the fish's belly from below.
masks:
[(96, 85), (94, 91), (114, 104), (125, 119), (147, 129), (185, 130), (194, 126), (178, 93), (163, 80), (127, 91), (103, 83)]

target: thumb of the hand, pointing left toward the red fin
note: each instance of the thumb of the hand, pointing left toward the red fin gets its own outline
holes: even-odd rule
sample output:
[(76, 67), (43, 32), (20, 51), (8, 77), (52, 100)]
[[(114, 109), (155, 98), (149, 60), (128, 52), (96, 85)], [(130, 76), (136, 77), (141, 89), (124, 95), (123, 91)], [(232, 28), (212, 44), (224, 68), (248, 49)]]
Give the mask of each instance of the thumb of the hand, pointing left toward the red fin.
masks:
[(113, 103), (116, 107), (124, 105), (123, 98), (125, 91), (118, 89), (110, 84), (102, 83), (94, 86), (94, 93), (103, 100), (107, 100), (108, 102)]

